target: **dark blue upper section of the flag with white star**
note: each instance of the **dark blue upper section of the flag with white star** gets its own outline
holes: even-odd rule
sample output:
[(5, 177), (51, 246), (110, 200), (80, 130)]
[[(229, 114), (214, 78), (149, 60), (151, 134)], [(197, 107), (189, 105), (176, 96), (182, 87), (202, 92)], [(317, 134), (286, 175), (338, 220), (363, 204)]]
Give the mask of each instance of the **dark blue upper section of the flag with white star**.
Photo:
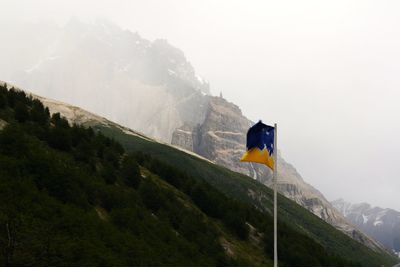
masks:
[(270, 156), (274, 153), (274, 127), (265, 125), (261, 121), (253, 125), (247, 132), (247, 150), (258, 147), (267, 149)]

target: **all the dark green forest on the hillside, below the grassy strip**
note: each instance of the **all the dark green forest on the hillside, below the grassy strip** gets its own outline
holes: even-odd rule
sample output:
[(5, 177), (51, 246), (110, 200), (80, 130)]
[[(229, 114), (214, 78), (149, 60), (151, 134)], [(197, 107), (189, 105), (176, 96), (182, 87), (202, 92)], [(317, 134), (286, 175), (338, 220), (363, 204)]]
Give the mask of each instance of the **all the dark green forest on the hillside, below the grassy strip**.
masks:
[[(272, 217), (179, 165), (6, 86), (0, 127), (3, 266), (271, 266)], [(279, 240), (280, 266), (362, 266), (285, 222)]]

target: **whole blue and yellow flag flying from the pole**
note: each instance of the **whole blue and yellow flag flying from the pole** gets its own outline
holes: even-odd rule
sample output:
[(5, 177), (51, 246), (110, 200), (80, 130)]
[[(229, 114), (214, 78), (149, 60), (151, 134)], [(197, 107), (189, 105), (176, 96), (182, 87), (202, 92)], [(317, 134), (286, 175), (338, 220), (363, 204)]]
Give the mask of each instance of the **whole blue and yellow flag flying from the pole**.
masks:
[(272, 126), (261, 121), (250, 127), (247, 132), (247, 151), (240, 161), (257, 162), (274, 169), (274, 131)]

